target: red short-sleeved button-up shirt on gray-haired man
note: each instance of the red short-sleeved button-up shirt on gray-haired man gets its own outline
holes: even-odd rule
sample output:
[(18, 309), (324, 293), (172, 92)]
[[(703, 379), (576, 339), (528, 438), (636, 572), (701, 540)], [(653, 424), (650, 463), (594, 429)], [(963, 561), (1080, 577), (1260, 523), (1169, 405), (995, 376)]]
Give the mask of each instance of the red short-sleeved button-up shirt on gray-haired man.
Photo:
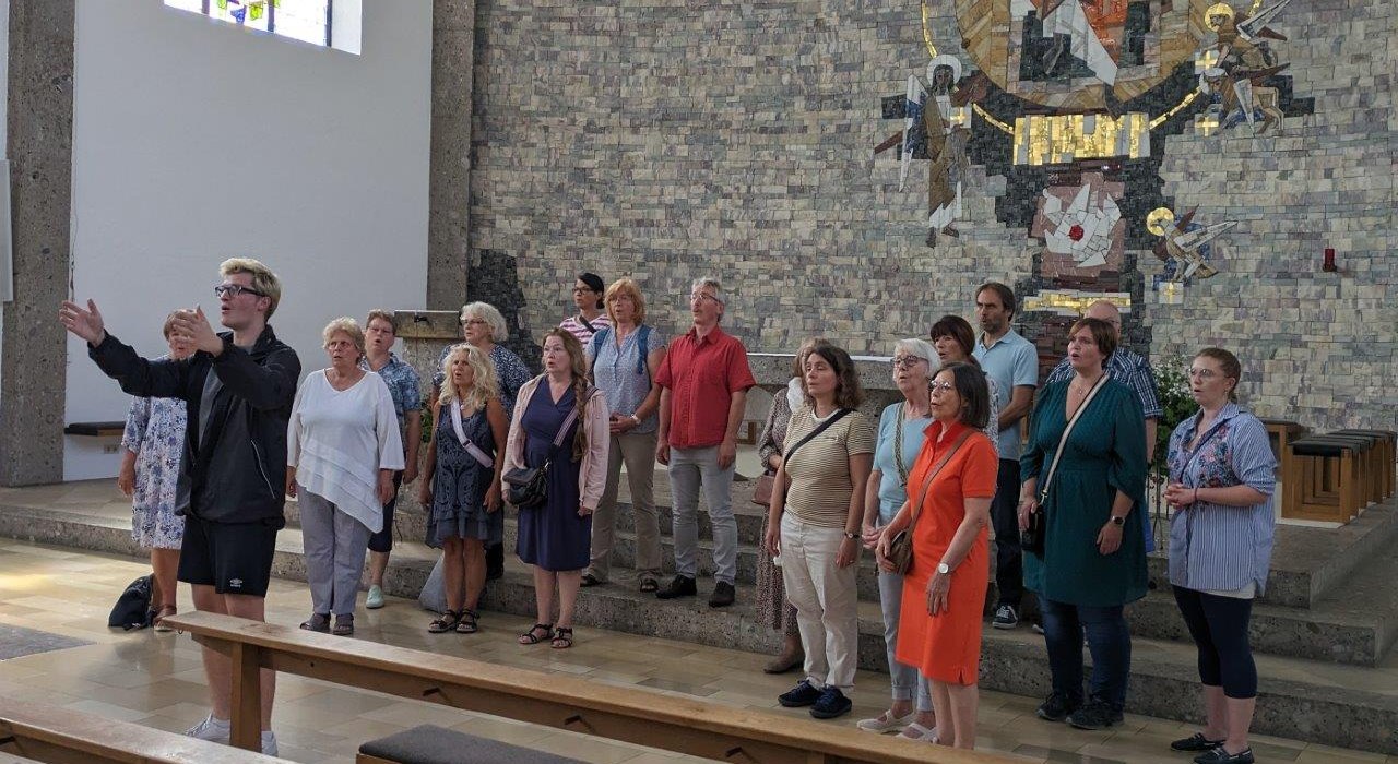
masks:
[(656, 384), (670, 391), (670, 446), (707, 448), (727, 434), (733, 394), (758, 381), (748, 369), (748, 349), (714, 327), (703, 338), (693, 328), (675, 338)]

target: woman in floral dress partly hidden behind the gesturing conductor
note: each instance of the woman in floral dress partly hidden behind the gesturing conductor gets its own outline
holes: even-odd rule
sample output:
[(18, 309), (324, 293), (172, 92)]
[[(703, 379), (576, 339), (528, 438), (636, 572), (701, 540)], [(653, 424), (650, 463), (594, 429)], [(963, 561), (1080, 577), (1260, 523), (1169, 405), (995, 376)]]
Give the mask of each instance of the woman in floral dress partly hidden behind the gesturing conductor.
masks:
[[(165, 318), (169, 358), (183, 360), (193, 349), (171, 337), (172, 313)], [(122, 433), (122, 469), (116, 485), (131, 499), (131, 541), (151, 550), (155, 587), (151, 608), (155, 630), (169, 631), (165, 616), (175, 615), (175, 571), (185, 541), (185, 518), (175, 514), (175, 482), (185, 453), (185, 401), (133, 398)]]

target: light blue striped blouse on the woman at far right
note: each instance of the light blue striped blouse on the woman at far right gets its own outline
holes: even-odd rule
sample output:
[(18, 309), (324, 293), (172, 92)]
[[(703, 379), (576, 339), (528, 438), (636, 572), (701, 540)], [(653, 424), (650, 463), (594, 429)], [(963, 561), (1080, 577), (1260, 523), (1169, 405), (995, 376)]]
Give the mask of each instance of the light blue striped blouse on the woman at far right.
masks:
[(1170, 521), (1170, 582), (1195, 591), (1239, 591), (1250, 584), (1261, 595), (1272, 559), (1276, 515), (1276, 460), (1267, 427), (1237, 404), (1226, 404), (1194, 451), (1188, 444), (1202, 412), (1170, 434), (1170, 480), (1186, 487), (1246, 485), (1267, 496), (1253, 507), (1198, 501)]

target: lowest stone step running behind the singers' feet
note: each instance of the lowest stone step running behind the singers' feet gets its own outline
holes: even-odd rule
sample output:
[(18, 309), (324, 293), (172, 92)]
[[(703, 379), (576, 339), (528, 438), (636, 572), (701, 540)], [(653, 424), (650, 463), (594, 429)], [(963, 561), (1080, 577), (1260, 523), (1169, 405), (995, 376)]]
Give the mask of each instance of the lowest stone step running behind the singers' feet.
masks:
[[(144, 559), (130, 541), (124, 518), (94, 517), (80, 510), (0, 508), (0, 535), (77, 546)], [(415, 598), (432, 567), (435, 552), (419, 543), (401, 545), (389, 567), (384, 588), (390, 595)], [(278, 534), (273, 573), (303, 581), (301, 532)], [(1388, 585), (1391, 578), (1381, 581)], [(700, 596), (663, 602), (630, 587), (597, 587), (583, 592), (577, 605), (582, 627), (604, 627), (667, 640), (772, 654), (776, 633), (758, 624), (754, 589), (738, 587), (738, 603), (714, 610)], [(482, 627), (491, 629), (489, 612), (534, 615), (533, 577), (510, 559), (503, 578), (487, 588)], [(860, 668), (886, 670), (878, 606), (860, 605)], [(424, 615), (424, 627), (428, 616)], [(587, 638), (586, 631), (580, 634)], [(1253, 729), (1329, 746), (1398, 754), (1398, 668), (1357, 668), (1296, 658), (1260, 655), (1261, 675)], [(756, 670), (754, 668), (754, 670)], [(1132, 642), (1131, 691), (1127, 710), (1151, 717), (1198, 721), (1199, 687), (1191, 645), (1137, 637)], [(1048, 690), (1043, 638), (1029, 629), (984, 633), (980, 683), (991, 690), (1042, 697)]]

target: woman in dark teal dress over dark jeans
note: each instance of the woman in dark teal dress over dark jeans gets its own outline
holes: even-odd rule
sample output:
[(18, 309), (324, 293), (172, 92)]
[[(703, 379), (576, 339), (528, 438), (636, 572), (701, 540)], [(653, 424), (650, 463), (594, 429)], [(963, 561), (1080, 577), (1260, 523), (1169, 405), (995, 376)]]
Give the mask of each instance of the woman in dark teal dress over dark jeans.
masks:
[[(1044, 549), (1025, 552), (1025, 588), (1039, 595), (1053, 672), (1053, 693), (1039, 717), (1103, 729), (1121, 722), (1131, 672), (1123, 606), (1146, 589), (1145, 418), (1137, 394), (1106, 376), (1106, 360), (1117, 345), (1111, 325), (1083, 318), (1068, 337), (1074, 376), (1047, 385), (1039, 397), (1021, 457), (1021, 528), (1040, 511), (1040, 480), (1053, 468), (1068, 419), (1088, 402), (1048, 482)], [(1086, 703), (1083, 631), (1093, 666)]]

